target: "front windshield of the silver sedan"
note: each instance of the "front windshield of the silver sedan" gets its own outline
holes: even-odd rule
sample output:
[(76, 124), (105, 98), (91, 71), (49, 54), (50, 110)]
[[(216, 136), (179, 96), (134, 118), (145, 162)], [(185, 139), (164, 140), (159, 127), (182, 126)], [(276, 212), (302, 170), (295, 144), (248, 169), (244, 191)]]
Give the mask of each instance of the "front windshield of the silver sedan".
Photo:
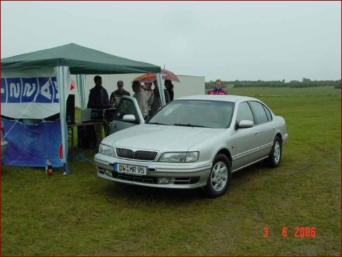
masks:
[(157, 112), (147, 124), (224, 129), (230, 126), (234, 105), (223, 101), (175, 100)]

